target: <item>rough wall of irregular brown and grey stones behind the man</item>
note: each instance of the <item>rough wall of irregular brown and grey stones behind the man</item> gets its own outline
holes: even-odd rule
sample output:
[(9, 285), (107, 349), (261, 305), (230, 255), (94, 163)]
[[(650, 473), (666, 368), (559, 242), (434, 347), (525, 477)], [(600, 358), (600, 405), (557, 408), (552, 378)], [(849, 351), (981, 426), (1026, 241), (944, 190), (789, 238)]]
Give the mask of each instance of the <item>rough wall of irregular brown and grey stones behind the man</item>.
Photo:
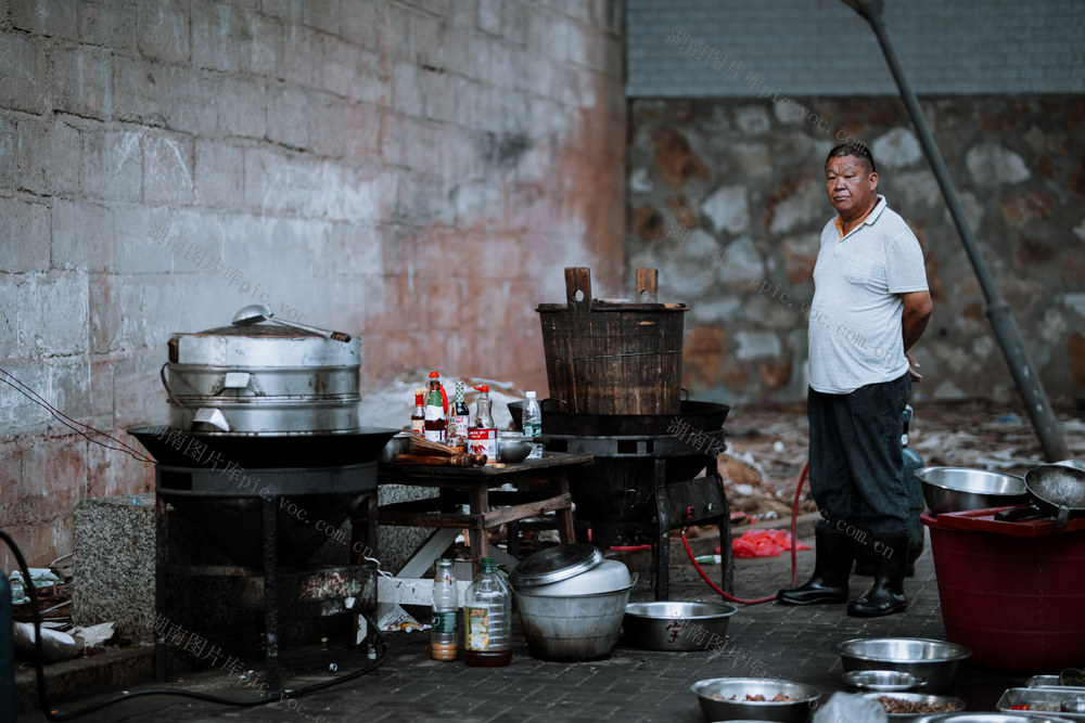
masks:
[[(926, 99), (971, 228), (1049, 397), (1085, 398), (1085, 100)], [(923, 246), (934, 317), (914, 399), (1017, 400), (972, 267), (895, 99), (638, 100), (630, 106), (627, 268), (686, 301), (684, 386), (800, 399), (825, 157), (870, 144), (880, 190)]]

